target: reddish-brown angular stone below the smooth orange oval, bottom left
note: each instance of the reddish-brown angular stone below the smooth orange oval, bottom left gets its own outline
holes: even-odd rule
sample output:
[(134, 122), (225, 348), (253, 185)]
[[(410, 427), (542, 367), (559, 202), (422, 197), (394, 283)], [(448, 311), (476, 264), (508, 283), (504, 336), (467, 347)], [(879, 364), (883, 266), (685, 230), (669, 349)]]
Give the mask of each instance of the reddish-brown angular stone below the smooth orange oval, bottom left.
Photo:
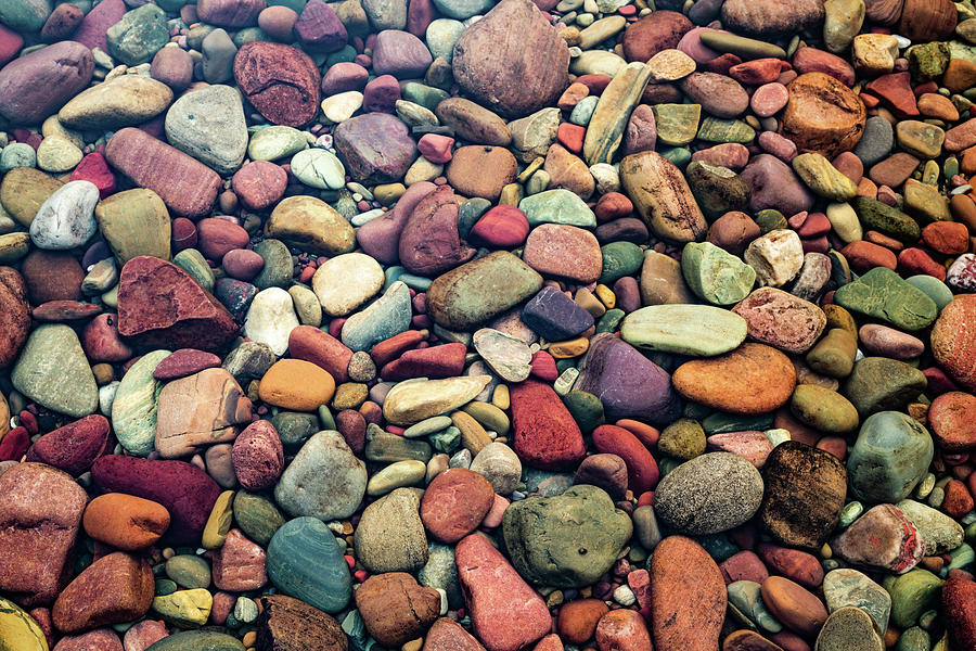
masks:
[(57, 597), (51, 617), (63, 633), (138, 620), (153, 603), (150, 564), (116, 551), (86, 567)]

